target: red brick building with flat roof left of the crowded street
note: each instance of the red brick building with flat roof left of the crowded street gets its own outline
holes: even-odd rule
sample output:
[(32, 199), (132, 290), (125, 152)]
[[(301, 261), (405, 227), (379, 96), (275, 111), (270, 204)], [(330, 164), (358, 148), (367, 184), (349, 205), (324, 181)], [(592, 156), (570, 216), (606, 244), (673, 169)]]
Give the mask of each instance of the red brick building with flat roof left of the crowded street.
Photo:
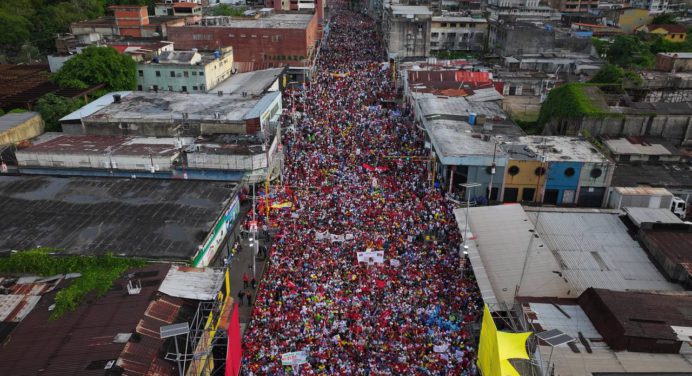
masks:
[(319, 39), (316, 14), (277, 13), (235, 19), (215, 17), (203, 25), (170, 28), (168, 40), (179, 50), (211, 51), (232, 46), (235, 67), (252, 71), (308, 65)]

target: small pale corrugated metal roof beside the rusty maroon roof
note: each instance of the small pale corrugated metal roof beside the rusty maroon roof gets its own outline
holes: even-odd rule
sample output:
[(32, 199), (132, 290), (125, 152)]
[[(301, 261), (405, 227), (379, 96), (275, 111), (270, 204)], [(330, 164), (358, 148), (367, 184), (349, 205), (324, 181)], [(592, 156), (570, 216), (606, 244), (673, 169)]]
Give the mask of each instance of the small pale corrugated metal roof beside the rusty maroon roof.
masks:
[(159, 291), (178, 298), (213, 300), (223, 284), (223, 269), (173, 266)]

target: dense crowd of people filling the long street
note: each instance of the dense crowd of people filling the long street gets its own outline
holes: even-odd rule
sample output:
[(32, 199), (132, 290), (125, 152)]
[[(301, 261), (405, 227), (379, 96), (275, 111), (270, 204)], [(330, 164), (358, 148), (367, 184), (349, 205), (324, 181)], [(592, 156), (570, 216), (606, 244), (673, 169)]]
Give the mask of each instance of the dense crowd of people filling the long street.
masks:
[[(277, 241), (243, 373), (475, 375), (469, 327), (482, 301), (463, 276), (452, 207), (419, 158), (423, 132), (383, 106), (395, 87), (373, 21), (337, 8), (312, 84), (287, 103), (301, 116), (284, 125), (273, 202), (290, 205), (269, 216)], [(282, 365), (296, 351), (307, 362)]]

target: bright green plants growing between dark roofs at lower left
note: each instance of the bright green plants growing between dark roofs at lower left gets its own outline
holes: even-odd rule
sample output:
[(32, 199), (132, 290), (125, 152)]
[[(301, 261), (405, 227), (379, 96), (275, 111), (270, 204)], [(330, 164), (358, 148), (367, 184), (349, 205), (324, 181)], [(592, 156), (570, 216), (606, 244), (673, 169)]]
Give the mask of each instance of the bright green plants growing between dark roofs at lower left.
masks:
[(115, 257), (111, 253), (104, 256), (72, 256), (61, 255), (60, 250), (53, 248), (35, 248), (0, 258), (0, 273), (44, 277), (80, 273), (81, 277), (73, 279), (68, 287), (55, 295), (55, 309), (51, 313), (51, 319), (55, 320), (75, 310), (87, 295), (105, 295), (113, 281), (126, 270), (143, 265), (143, 260)]

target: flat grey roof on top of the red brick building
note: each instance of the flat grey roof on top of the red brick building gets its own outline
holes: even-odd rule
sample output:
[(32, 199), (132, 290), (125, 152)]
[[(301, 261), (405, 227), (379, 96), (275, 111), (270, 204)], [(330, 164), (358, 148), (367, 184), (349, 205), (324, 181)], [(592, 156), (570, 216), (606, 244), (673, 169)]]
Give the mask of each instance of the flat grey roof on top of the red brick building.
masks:
[(312, 14), (304, 13), (272, 13), (259, 18), (204, 17), (202, 23), (205, 23), (205, 20), (214, 19), (215, 22), (207, 24), (235, 29), (306, 29), (312, 17)]

